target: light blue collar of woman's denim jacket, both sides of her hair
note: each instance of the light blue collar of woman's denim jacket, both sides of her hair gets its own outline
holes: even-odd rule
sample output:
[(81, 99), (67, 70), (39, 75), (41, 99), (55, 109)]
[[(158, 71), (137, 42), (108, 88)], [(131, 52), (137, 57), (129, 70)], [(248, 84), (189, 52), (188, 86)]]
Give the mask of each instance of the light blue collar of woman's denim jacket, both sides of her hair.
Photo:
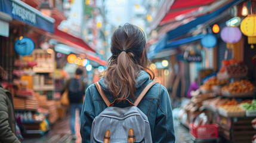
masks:
[[(136, 79), (137, 83), (135, 83), (135, 88), (137, 88), (137, 89), (140, 88), (141, 85), (143, 85), (149, 79), (149, 77), (150, 77), (149, 74), (146, 71), (144, 71), (144, 70), (141, 70), (139, 74), (140, 75)], [(102, 77), (98, 81), (98, 83), (100, 83), (101, 88), (107, 89), (107, 85), (104, 82), (104, 77)]]

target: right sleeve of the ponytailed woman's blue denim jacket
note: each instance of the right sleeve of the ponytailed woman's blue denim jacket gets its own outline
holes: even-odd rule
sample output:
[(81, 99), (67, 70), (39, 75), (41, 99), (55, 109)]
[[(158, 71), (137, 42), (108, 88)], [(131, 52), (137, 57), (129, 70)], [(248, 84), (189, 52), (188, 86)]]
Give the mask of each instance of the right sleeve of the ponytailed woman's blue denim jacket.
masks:
[(159, 87), (159, 102), (156, 116), (155, 142), (175, 142), (171, 101), (164, 86)]

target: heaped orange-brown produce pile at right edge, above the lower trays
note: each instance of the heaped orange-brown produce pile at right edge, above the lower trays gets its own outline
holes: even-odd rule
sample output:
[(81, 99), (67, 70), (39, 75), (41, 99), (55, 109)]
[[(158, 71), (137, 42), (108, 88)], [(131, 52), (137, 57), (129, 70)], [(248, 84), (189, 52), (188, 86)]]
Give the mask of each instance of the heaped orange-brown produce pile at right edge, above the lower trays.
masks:
[(232, 82), (228, 86), (224, 86), (222, 90), (230, 93), (240, 93), (255, 91), (255, 87), (249, 80), (240, 80), (238, 82)]

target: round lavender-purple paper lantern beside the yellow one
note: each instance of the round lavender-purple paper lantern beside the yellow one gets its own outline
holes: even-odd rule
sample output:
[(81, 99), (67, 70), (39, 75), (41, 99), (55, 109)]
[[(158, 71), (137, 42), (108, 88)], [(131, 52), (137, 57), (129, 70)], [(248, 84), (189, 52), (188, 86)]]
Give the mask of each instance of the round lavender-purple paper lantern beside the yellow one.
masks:
[(221, 39), (226, 43), (236, 43), (242, 38), (238, 27), (224, 27), (220, 32)]

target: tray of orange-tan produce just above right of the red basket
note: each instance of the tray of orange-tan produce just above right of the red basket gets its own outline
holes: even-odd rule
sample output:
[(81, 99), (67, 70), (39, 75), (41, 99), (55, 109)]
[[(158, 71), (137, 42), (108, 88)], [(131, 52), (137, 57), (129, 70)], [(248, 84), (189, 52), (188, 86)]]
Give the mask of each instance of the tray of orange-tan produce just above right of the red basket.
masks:
[(218, 108), (218, 113), (224, 117), (244, 117), (245, 110), (238, 105), (223, 105)]

